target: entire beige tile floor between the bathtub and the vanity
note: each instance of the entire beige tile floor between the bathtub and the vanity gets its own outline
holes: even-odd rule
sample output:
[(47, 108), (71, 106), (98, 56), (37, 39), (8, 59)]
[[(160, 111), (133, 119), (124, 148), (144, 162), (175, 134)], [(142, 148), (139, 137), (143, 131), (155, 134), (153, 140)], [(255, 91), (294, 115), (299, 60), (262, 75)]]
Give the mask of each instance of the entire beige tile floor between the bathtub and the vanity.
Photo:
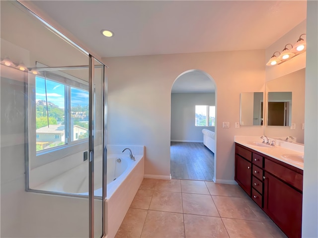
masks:
[(286, 238), (239, 185), (144, 179), (116, 238)]

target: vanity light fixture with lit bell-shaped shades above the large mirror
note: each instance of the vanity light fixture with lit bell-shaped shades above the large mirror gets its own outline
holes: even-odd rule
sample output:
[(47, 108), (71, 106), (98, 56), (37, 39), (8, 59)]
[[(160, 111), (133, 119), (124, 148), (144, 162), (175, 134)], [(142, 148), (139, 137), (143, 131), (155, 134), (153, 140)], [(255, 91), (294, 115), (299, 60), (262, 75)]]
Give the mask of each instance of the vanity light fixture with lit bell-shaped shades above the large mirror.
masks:
[[(298, 41), (293, 46), (292, 44), (285, 45), (282, 53), (278, 51), (274, 52), (273, 56), (270, 60), (266, 63), (266, 65), (275, 65), (283, 63), (287, 60), (292, 59), (295, 56), (298, 56), (306, 51), (306, 41), (302, 38), (306, 34), (300, 35)], [(289, 47), (289, 48), (288, 48)], [(279, 56), (275, 56), (276, 53), (279, 53)]]

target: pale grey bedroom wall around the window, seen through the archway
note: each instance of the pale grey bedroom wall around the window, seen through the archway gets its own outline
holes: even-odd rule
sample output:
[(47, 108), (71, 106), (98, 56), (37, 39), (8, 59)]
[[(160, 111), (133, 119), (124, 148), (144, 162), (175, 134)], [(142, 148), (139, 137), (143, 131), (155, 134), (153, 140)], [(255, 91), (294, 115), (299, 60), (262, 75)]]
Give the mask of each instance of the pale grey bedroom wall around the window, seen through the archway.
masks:
[(215, 94), (171, 93), (171, 141), (203, 142), (202, 129), (214, 131), (214, 126), (195, 126), (196, 105), (215, 106)]

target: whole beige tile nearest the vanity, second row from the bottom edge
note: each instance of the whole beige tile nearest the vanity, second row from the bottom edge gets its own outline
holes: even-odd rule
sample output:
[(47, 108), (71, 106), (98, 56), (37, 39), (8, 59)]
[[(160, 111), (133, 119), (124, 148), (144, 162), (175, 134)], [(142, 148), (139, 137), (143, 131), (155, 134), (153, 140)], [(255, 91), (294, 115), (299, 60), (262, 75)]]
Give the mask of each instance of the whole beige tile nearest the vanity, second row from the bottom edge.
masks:
[(243, 198), (224, 196), (212, 196), (212, 198), (221, 217), (259, 221)]

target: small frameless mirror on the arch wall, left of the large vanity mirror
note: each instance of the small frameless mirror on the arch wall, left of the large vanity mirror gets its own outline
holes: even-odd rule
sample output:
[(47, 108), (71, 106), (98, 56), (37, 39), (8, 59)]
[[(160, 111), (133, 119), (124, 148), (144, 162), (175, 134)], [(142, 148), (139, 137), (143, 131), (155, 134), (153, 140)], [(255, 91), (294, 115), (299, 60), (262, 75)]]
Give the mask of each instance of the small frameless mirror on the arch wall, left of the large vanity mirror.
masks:
[(240, 93), (240, 125), (263, 125), (263, 92)]

